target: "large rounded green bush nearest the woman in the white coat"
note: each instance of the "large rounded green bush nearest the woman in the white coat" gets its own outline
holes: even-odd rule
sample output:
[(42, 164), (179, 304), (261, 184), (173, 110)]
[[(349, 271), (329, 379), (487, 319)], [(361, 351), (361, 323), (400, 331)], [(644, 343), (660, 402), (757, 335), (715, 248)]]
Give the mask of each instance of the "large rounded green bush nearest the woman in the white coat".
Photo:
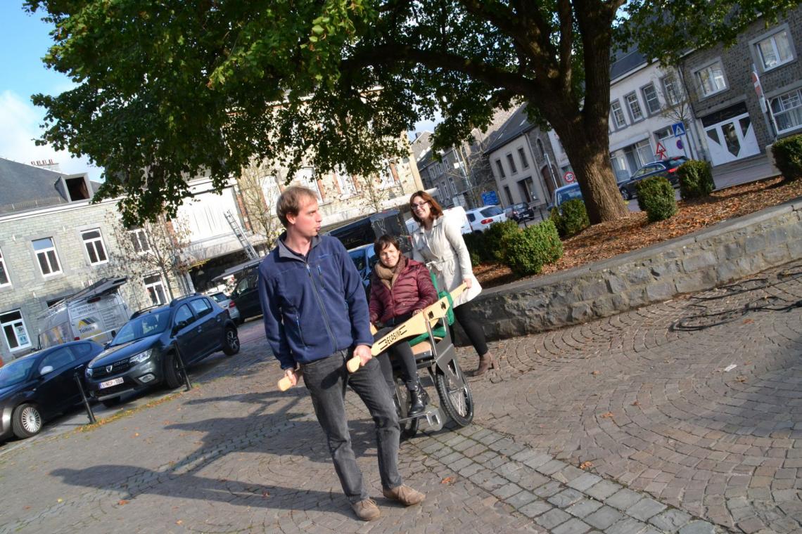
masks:
[(553, 221), (504, 234), (502, 261), (517, 276), (537, 275), (544, 265), (562, 257), (562, 242)]

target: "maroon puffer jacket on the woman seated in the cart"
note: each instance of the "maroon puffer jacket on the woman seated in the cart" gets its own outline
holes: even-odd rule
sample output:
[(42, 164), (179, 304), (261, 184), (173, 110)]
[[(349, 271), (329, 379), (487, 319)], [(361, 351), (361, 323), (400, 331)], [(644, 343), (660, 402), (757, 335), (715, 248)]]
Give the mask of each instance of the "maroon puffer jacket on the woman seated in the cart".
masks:
[(387, 288), (373, 271), (371, 275), (371, 323), (385, 323), (415, 310), (423, 310), (437, 301), (437, 291), (431, 285), (431, 275), (423, 263), (407, 259), (407, 265), (395, 279), (392, 289)]

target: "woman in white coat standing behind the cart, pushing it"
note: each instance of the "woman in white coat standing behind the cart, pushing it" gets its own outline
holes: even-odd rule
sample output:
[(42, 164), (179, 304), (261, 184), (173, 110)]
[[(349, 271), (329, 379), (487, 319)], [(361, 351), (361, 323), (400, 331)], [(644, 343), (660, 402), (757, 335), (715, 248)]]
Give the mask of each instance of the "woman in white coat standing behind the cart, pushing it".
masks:
[(462, 239), (462, 222), (444, 216), (443, 208), (426, 191), (413, 193), (409, 205), (419, 225), (412, 234), (412, 259), (425, 263), (435, 274), (440, 291), (453, 291), (463, 282), (468, 287), (454, 301), (454, 315), (479, 355), (479, 367), (472, 375), (484, 375), (496, 367), (496, 362), (488, 351), (482, 325), (463, 306), (479, 295), (482, 287), (473, 275), (471, 256)]

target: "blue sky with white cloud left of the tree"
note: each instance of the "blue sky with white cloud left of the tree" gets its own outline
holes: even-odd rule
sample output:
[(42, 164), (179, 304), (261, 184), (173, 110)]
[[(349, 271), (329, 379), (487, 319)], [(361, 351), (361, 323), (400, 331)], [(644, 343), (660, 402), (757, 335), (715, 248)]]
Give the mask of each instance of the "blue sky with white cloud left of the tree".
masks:
[[(37, 147), (44, 110), (30, 102), (35, 93), (59, 94), (73, 85), (64, 74), (48, 70), (42, 58), (51, 44), (51, 26), (42, 14), (22, 10), (22, 0), (0, 1), (0, 158), (19, 163), (53, 159), (65, 173), (88, 172), (98, 179), (100, 170), (87, 159), (76, 159), (52, 147)], [(420, 122), (415, 131), (432, 130), (433, 122)]]

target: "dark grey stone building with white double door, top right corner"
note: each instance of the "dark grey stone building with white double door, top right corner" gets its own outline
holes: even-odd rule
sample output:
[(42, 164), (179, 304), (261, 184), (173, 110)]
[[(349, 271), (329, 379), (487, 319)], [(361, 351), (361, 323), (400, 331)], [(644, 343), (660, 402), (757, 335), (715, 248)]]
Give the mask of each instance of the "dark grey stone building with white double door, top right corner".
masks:
[(802, 131), (799, 50), (802, 8), (768, 27), (755, 21), (729, 48), (718, 45), (683, 58), (695, 127), (714, 166), (760, 155), (778, 137)]

